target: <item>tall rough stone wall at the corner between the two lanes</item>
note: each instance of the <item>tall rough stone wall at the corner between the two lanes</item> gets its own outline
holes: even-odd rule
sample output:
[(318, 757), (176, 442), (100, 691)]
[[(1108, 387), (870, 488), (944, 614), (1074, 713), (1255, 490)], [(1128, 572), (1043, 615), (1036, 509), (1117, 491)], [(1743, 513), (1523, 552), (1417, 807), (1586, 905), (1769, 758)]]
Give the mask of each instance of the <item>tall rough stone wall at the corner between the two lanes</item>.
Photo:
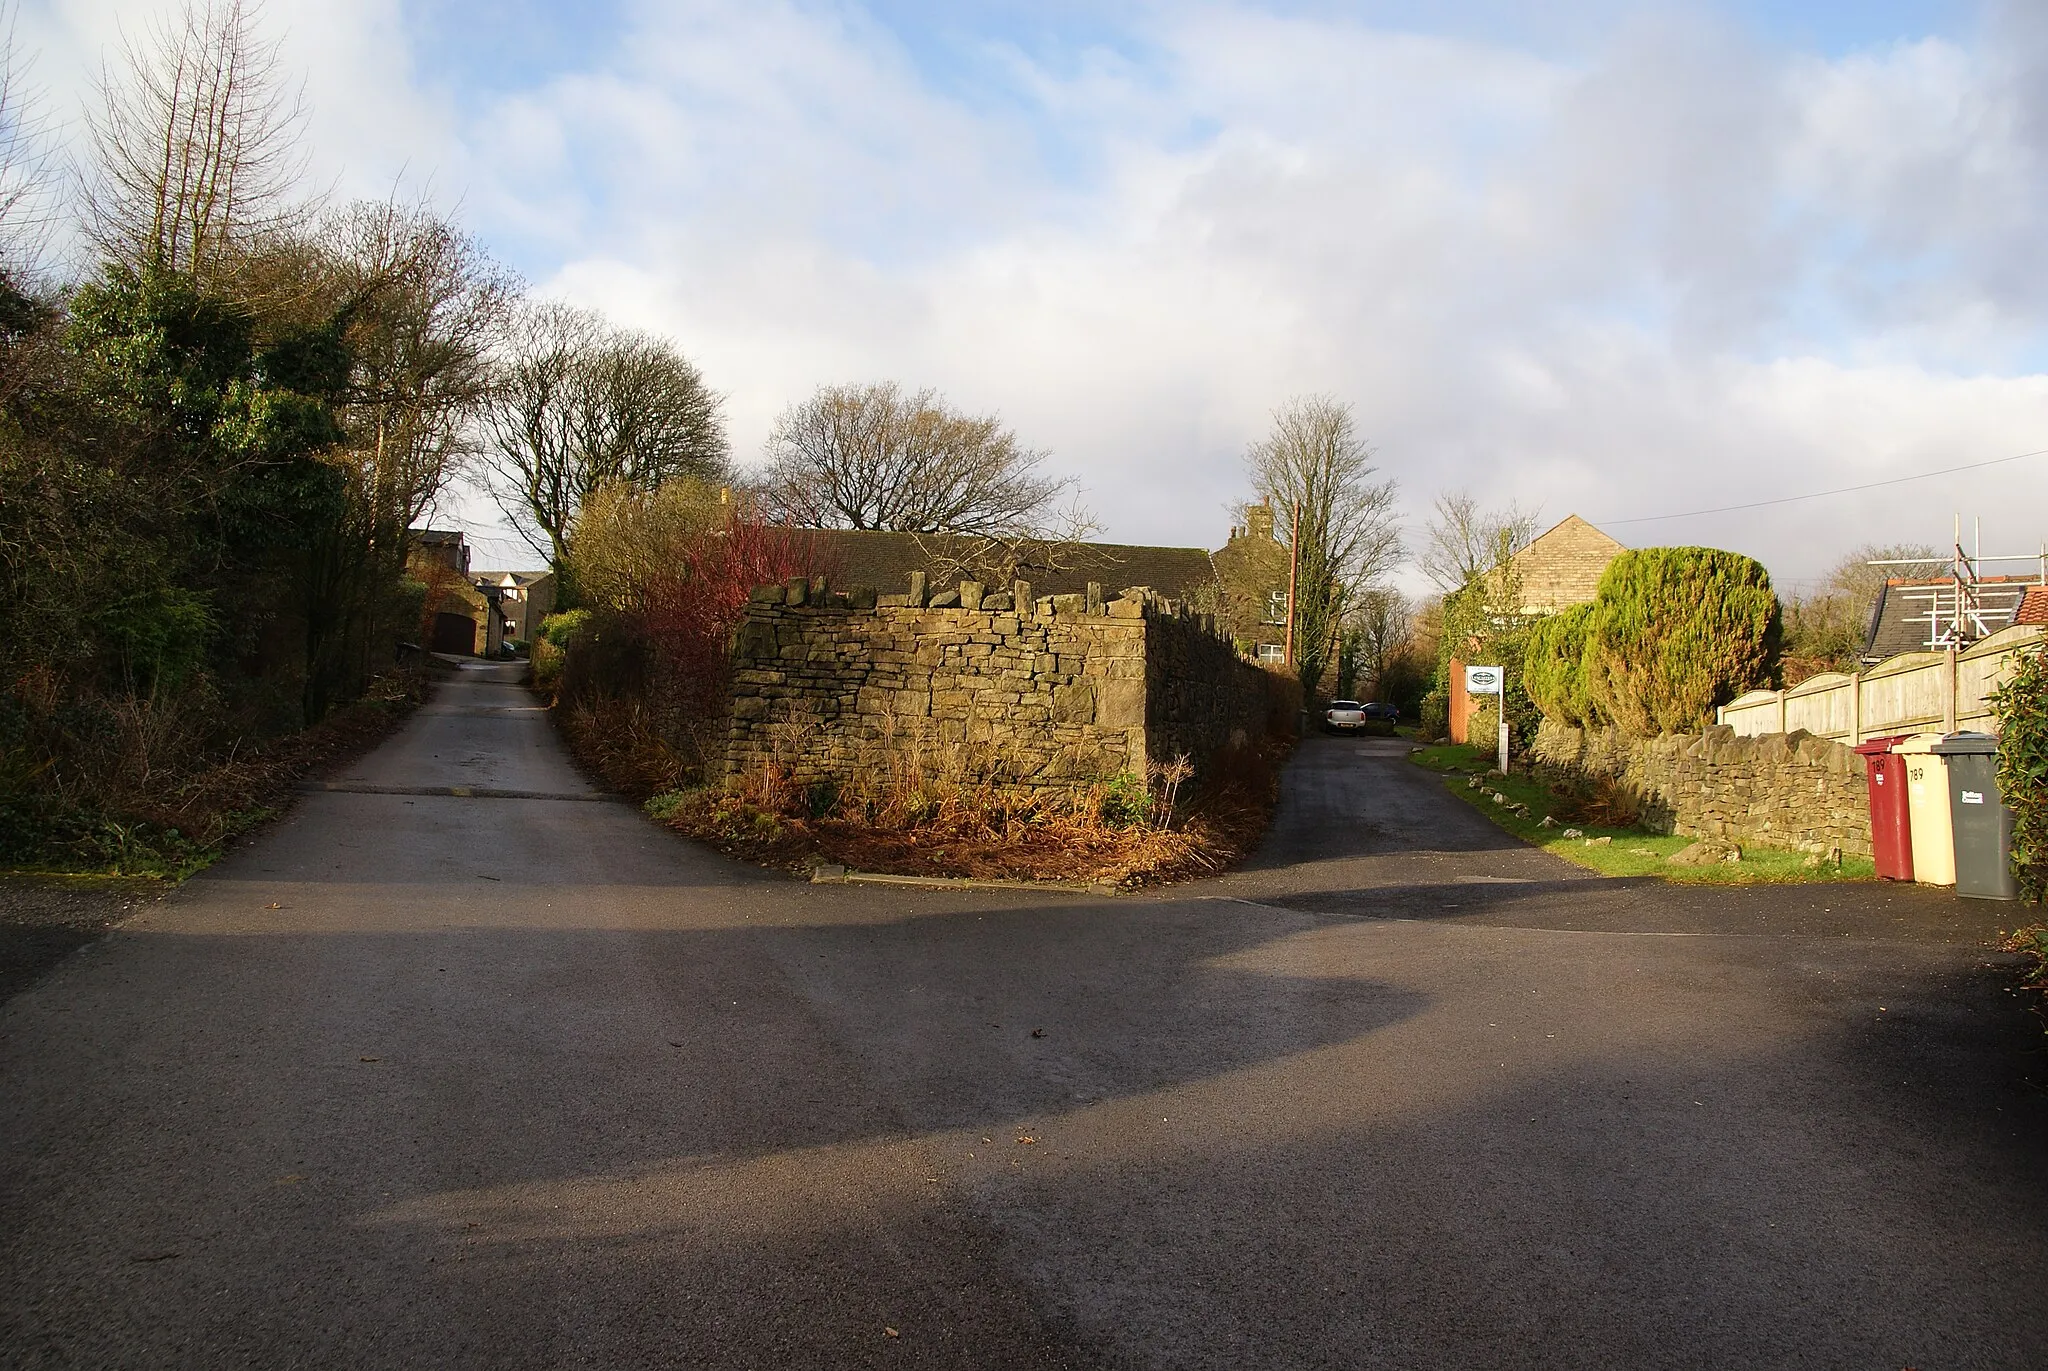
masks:
[(1026, 582), (928, 594), (754, 592), (733, 635), (725, 773), (846, 785), (891, 764), (1077, 787), (1188, 754), (1196, 775), (1262, 738), (1266, 672), (1206, 615), (1143, 586), (1032, 596)]

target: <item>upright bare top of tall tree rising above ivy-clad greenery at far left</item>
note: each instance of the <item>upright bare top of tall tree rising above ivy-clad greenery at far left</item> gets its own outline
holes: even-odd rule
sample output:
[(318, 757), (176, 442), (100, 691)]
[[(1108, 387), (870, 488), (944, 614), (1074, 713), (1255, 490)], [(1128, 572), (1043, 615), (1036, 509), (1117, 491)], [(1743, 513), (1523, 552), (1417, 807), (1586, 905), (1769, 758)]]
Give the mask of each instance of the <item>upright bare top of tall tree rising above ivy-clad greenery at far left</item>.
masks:
[(305, 223), (305, 107), (258, 18), (256, 0), (186, 0), (102, 68), (86, 227), (106, 258), (213, 281)]

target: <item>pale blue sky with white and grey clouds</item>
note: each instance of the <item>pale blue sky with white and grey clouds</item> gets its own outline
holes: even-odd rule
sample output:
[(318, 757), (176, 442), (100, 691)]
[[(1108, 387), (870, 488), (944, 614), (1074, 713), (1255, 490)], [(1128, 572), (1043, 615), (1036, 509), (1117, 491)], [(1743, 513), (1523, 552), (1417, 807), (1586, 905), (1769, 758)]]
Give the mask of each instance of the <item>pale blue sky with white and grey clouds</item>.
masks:
[[(20, 0), (76, 129), (162, 6)], [(1790, 590), (2048, 537), (2048, 4), (272, 0), (313, 180), (674, 340), (733, 453), (817, 385), (997, 412), (1106, 537), (1219, 545), (1292, 396)], [(1683, 518), (1653, 518), (1688, 514)], [(455, 496), (477, 562), (535, 557)], [(1417, 584), (1413, 572), (1405, 584)]]

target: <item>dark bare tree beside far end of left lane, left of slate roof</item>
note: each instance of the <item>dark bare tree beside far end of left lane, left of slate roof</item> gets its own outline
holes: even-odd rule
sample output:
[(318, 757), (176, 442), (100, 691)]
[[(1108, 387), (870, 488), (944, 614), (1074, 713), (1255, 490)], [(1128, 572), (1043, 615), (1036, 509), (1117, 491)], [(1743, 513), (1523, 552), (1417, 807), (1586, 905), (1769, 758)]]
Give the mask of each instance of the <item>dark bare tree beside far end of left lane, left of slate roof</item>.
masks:
[(567, 533), (598, 486), (729, 480), (723, 400), (668, 342), (543, 303), (512, 326), (485, 418), (498, 506), (567, 572)]

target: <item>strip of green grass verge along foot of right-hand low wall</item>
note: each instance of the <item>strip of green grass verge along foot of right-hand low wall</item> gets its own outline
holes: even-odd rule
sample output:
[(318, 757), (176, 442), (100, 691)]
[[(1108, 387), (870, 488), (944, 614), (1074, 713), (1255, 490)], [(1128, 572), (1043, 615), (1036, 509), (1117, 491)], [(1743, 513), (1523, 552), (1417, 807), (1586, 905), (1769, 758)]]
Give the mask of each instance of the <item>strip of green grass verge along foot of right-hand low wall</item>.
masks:
[[(1692, 838), (1675, 834), (1651, 834), (1626, 824), (1599, 824), (1575, 818), (1571, 801), (1528, 773), (1507, 777), (1487, 777), (1493, 768), (1493, 752), (1464, 744), (1436, 744), (1411, 754), (1417, 766), (1444, 773), (1452, 795), (1473, 805), (1489, 820), (1532, 846), (1563, 857), (1565, 861), (1597, 871), (1602, 875), (1653, 875), (1663, 881), (1688, 885), (1759, 885), (1759, 883), (1808, 883), (1808, 881), (1868, 881), (1876, 879), (1876, 867), (1868, 857), (1849, 857), (1839, 867), (1821, 863), (1808, 867), (1804, 853), (1786, 853), (1765, 846), (1743, 846), (1743, 861), (1737, 865), (1714, 863), (1706, 867), (1673, 867), (1671, 857), (1692, 846)], [(1470, 781), (1481, 785), (1473, 787)], [(1495, 803), (1487, 791), (1497, 791), (1509, 803)], [(1511, 805), (1528, 805), (1528, 818), (1516, 814)], [(1554, 828), (1544, 828), (1550, 818)], [(1567, 838), (1565, 828), (1581, 836)], [(1599, 842), (1606, 838), (1606, 842)], [(1591, 840), (1591, 842), (1587, 842)]]

